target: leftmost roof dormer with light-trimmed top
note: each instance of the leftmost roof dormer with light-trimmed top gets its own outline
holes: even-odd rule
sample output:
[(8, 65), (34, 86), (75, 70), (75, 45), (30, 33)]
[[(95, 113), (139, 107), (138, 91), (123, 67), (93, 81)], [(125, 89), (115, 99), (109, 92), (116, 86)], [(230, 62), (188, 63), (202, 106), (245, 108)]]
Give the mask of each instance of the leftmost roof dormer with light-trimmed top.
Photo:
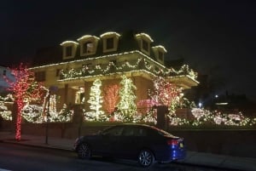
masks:
[(65, 41), (61, 43), (62, 46), (62, 59), (67, 60), (75, 57), (79, 43), (74, 41)]

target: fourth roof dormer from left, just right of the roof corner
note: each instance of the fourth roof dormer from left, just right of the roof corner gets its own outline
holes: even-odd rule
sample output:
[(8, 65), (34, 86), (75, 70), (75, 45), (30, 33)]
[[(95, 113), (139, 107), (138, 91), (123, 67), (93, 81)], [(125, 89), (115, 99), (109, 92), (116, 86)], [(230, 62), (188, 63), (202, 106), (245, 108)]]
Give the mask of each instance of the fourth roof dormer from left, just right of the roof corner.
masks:
[(153, 39), (149, 37), (148, 34), (146, 33), (139, 33), (135, 35), (135, 37), (137, 38), (137, 42), (139, 44), (141, 51), (144, 54), (150, 55), (150, 43), (154, 42)]

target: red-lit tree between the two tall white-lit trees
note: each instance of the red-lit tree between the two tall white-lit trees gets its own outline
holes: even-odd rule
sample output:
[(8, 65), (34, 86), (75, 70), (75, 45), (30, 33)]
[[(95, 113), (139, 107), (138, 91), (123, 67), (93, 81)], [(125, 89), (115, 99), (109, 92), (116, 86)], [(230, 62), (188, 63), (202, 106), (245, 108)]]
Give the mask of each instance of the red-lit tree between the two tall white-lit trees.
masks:
[(118, 84), (108, 85), (104, 88), (103, 99), (108, 113), (112, 113), (117, 105), (119, 100), (119, 88)]

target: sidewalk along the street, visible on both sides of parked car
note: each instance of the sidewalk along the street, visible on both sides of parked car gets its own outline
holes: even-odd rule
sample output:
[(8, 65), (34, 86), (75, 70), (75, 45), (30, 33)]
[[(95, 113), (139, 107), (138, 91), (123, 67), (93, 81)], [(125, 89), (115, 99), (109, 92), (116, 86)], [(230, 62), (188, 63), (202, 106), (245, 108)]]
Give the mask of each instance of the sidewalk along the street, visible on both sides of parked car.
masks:
[[(45, 136), (21, 134), (21, 140), (16, 141), (15, 134), (11, 134), (9, 132), (0, 132), (0, 142), (72, 151), (74, 140), (48, 137), (48, 144), (46, 144)], [(256, 171), (256, 158), (231, 157), (197, 151), (188, 151), (186, 159), (179, 163), (197, 166), (211, 166), (216, 168), (228, 168), (242, 171)]]

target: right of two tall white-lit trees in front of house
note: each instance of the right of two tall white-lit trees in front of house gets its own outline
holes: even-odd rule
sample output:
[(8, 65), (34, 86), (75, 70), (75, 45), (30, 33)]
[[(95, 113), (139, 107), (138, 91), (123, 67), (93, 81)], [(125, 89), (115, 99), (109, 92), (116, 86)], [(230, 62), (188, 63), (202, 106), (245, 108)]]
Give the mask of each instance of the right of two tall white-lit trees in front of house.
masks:
[(120, 101), (118, 109), (121, 112), (123, 121), (133, 121), (133, 115), (137, 112), (137, 105), (135, 104), (136, 86), (132, 83), (131, 78), (122, 77), (120, 82), (121, 88), (119, 90)]

